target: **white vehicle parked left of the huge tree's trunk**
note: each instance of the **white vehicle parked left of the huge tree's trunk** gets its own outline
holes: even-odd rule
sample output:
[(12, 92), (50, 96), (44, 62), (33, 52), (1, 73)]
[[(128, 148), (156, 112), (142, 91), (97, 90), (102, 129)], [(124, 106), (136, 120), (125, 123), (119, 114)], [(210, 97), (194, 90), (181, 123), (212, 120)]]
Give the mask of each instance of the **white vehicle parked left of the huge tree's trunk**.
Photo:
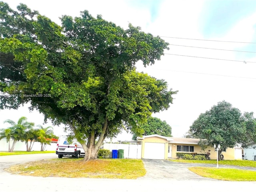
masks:
[(58, 158), (62, 158), (63, 156), (72, 156), (75, 158), (85, 156), (82, 145), (79, 142), (69, 143), (67, 141), (67, 136), (59, 137), (56, 154), (58, 155)]

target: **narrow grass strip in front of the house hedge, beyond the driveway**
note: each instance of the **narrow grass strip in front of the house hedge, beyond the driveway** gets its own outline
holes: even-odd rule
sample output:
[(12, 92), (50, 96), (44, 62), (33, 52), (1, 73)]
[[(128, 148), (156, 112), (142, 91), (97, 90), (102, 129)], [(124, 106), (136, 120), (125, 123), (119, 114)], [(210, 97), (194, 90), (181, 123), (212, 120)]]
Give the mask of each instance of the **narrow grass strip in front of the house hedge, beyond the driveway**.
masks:
[[(207, 164), (217, 164), (217, 160), (184, 160), (184, 159), (176, 159), (170, 160), (173, 162), (181, 162), (181, 163), (207, 163)], [(250, 160), (220, 160), (220, 165), (234, 165), (234, 166), (242, 166), (242, 167), (256, 167), (256, 161)]]

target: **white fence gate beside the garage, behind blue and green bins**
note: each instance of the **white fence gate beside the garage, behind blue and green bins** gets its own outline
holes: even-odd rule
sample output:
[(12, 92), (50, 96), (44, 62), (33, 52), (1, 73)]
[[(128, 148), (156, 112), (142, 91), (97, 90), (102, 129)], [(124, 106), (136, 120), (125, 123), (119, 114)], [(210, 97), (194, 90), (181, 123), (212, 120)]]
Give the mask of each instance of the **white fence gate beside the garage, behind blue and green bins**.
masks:
[(115, 144), (104, 143), (103, 149), (110, 150), (110, 158), (112, 157), (112, 150), (124, 150), (124, 158), (140, 159), (141, 158), (141, 145), (138, 144)]

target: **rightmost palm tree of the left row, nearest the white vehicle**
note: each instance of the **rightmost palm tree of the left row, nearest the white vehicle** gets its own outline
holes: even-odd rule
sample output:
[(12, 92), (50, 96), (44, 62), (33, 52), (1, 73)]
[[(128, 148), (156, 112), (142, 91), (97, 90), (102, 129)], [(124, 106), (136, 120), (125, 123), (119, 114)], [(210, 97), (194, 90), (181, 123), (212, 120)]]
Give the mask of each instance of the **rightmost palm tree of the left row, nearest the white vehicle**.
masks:
[(43, 127), (42, 125), (38, 125), (39, 127), (39, 137), (38, 142), (41, 143), (41, 151), (44, 151), (47, 144), (51, 143), (51, 139), (54, 138), (53, 129), (51, 126)]

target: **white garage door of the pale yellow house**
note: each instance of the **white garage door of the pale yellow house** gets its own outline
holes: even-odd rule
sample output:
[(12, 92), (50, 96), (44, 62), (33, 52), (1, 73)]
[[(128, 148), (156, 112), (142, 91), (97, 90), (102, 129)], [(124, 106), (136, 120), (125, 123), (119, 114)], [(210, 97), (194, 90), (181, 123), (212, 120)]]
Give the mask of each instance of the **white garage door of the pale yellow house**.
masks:
[(164, 159), (165, 144), (145, 142), (144, 159)]

